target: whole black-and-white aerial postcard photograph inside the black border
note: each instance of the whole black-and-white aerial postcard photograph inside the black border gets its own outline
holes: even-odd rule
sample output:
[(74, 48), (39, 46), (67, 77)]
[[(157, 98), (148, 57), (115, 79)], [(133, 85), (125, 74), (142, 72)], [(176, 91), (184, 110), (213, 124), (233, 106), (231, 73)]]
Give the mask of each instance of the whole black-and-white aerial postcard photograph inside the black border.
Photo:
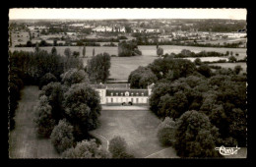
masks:
[(246, 17), (9, 9), (9, 159), (247, 158)]

